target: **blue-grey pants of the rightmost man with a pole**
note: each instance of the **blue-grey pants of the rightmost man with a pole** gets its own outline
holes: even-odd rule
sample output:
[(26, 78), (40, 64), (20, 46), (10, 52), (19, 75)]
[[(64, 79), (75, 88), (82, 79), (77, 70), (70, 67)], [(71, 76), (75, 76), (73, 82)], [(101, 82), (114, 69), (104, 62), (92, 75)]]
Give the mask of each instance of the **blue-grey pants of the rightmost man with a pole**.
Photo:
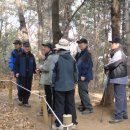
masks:
[(127, 114), (126, 85), (114, 84), (116, 119), (123, 119)]

